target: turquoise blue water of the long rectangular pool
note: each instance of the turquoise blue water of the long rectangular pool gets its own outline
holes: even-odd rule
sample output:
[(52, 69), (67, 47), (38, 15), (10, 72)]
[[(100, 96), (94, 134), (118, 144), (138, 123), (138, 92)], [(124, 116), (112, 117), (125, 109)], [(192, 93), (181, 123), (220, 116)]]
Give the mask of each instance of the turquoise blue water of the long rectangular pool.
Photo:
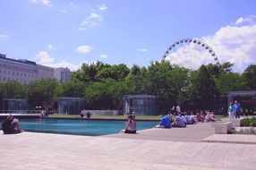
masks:
[[(51, 132), (98, 136), (118, 133), (124, 129), (126, 121), (73, 120), (73, 119), (21, 119), (21, 129), (28, 132)], [(137, 121), (137, 129), (149, 129), (158, 122)]]

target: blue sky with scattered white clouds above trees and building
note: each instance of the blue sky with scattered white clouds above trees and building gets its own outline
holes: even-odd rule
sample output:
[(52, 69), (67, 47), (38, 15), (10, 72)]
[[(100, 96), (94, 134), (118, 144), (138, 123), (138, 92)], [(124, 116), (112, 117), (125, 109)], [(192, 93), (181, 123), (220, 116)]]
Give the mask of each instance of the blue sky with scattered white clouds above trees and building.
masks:
[(200, 38), (237, 72), (256, 64), (254, 0), (0, 0), (0, 6), (0, 53), (10, 58), (71, 70), (96, 61), (147, 66), (175, 41)]

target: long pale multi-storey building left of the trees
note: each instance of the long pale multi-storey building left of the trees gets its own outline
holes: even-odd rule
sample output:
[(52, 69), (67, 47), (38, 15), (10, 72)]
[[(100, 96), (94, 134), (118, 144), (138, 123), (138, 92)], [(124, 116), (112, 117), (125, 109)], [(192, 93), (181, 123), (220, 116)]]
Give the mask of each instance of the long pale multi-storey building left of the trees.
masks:
[[(71, 75), (69, 69), (65, 68), (64, 71), (66, 75)], [(61, 74), (55, 74), (55, 72), (59, 72), (59, 68), (47, 67), (29, 60), (15, 60), (0, 54), (0, 82), (17, 81), (26, 84), (38, 79), (62, 80)], [(64, 80), (68, 81), (69, 77), (65, 77)]]

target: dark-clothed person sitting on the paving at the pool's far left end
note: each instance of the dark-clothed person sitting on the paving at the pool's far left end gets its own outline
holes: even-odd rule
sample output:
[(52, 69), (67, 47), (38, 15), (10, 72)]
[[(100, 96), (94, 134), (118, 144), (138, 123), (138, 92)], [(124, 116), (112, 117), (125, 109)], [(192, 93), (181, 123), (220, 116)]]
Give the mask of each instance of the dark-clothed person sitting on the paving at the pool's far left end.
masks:
[(13, 118), (13, 115), (8, 115), (7, 118), (4, 120), (4, 122), (2, 123), (2, 130), (4, 134), (23, 132), (23, 130), (21, 130), (20, 128), (19, 120)]

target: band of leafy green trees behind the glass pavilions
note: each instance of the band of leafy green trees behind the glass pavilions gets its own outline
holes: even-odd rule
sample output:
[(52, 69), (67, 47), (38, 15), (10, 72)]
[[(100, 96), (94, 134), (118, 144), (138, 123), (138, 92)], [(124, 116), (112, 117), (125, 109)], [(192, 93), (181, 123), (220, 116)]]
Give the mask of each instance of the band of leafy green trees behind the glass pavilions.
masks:
[(226, 104), (230, 90), (256, 89), (256, 65), (233, 72), (233, 64), (201, 65), (189, 70), (168, 62), (148, 67), (125, 64), (82, 64), (71, 81), (53, 79), (0, 83), (1, 98), (27, 98), (30, 106), (52, 105), (55, 97), (85, 98), (88, 109), (121, 109), (123, 96), (148, 94), (159, 98), (161, 110), (181, 105), (186, 108), (213, 108)]

